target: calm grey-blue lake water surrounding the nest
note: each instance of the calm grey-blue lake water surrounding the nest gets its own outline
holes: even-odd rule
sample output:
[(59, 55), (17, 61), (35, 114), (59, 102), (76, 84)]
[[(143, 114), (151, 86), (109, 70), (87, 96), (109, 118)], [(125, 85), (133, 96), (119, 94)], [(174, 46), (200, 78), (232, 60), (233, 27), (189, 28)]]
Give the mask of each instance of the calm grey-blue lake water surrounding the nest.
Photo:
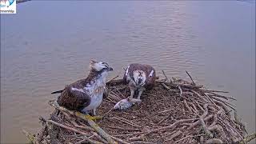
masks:
[(1, 142), (26, 142), (50, 94), (86, 77), (90, 58), (130, 62), (227, 90), (255, 131), (255, 3), (31, 1), (1, 14)]

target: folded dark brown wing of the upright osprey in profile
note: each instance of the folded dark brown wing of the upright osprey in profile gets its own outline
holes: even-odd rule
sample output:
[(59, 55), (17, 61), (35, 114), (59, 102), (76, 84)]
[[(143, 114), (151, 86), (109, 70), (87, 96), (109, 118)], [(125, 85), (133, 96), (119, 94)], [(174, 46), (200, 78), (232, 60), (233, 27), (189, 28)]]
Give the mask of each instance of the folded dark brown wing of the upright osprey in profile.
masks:
[(59, 106), (64, 106), (69, 110), (81, 110), (90, 105), (90, 96), (81, 91), (71, 90), (70, 86), (66, 86), (57, 102)]

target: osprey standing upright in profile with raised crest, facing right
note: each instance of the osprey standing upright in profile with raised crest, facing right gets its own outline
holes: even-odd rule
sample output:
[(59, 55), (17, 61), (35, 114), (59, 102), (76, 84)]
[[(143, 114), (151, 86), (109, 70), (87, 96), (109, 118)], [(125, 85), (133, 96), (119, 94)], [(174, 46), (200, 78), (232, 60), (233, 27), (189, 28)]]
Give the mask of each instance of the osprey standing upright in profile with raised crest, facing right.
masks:
[(106, 89), (106, 76), (110, 70), (113, 70), (106, 62), (90, 61), (89, 75), (85, 79), (78, 80), (65, 87), (64, 90), (58, 90), (51, 94), (62, 93), (58, 97), (59, 106), (64, 106), (68, 110), (78, 110), (88, 114), (93, 110), (96, 114), (96, 108), (102, 103), (103, 93)]

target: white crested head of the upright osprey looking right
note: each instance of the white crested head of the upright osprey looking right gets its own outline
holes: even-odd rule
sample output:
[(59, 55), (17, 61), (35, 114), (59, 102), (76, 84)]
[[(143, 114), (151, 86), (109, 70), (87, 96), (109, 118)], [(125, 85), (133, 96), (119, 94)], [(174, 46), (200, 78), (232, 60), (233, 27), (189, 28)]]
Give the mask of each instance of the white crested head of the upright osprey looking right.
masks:
[(95, 70), (97, 72), (103, 73), (113, 70), (106, 62), (97, 62), (90, 60), (90, 70)]

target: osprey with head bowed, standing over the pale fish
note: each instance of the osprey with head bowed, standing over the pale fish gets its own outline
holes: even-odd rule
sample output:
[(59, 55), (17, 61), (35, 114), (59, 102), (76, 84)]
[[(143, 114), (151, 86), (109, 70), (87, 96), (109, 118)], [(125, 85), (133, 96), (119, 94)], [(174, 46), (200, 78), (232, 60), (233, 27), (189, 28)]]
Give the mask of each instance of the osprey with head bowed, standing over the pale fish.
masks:
[(130, 97), (133, 98), (134, 91), (138, 90), (138, 99), (141, 98), (143, 90), (154, 86), (155, 79), (156, 74), (152, 66), (138, 63), (130, 64), (123, 76), (123, 81), (129, 83)]

